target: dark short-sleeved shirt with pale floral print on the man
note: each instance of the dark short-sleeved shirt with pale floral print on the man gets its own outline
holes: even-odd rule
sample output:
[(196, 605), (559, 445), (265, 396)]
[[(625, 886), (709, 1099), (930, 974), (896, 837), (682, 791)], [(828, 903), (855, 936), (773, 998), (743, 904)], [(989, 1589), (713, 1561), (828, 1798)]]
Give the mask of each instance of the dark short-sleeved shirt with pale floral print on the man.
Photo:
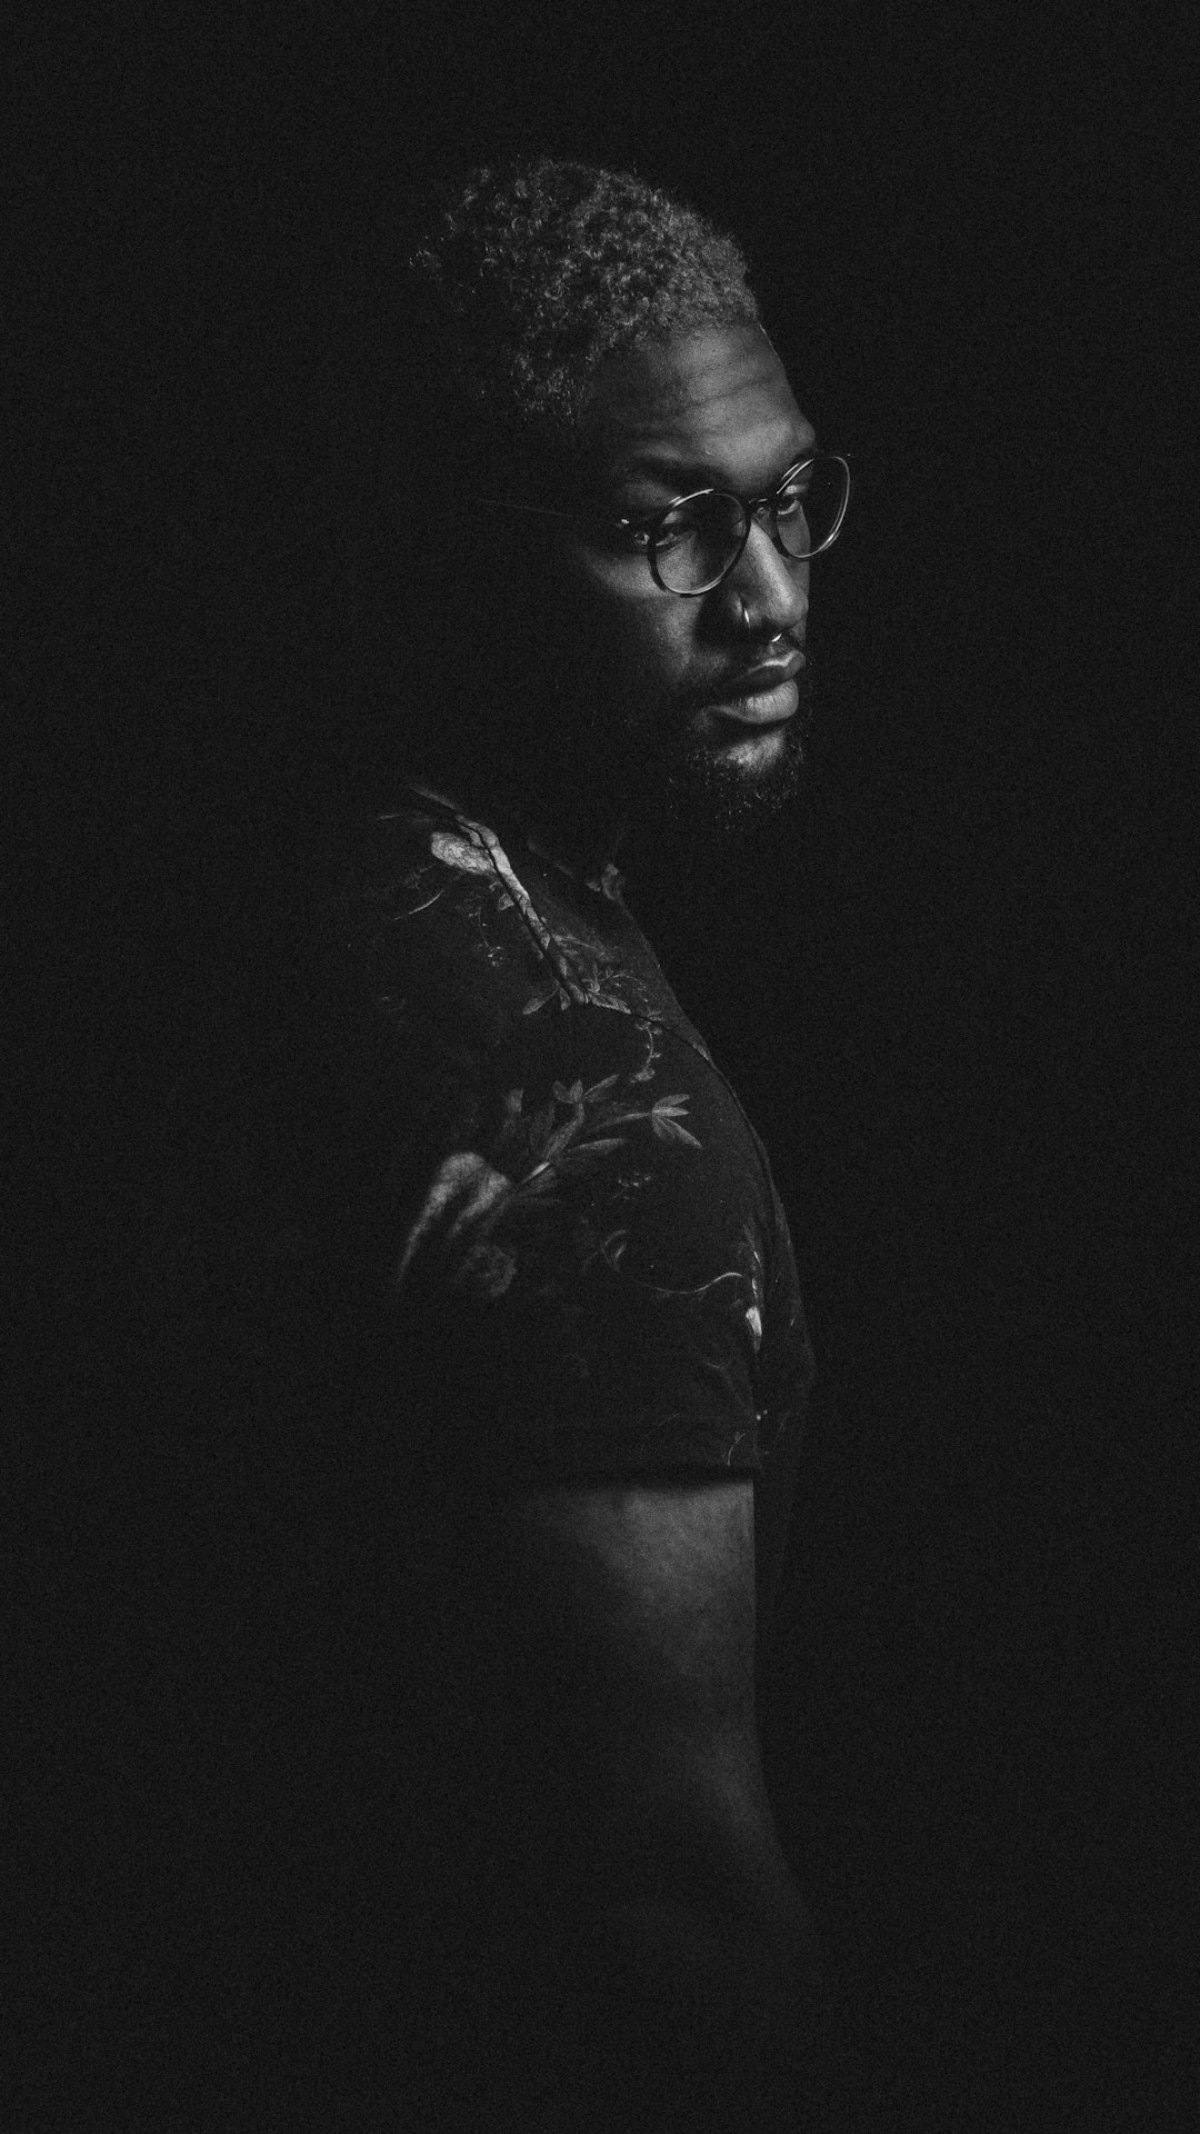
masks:
[(788, 1225), (615, 869), (416, 787), (348, 926), (386, 1146), (376, 1398), (416, 1389), (427, 1472), (784, 1487), (814, 1376)]

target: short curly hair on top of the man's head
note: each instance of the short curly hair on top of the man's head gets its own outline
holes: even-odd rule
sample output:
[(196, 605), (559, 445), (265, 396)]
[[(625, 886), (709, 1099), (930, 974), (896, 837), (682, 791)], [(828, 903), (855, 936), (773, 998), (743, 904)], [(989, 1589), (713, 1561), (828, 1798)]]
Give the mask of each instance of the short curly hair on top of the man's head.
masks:
[(628, 173), (538, 156), (474, 171), (410, 258), (410, 331), (461, 418), (579, 435), (604, 356), (760, 324), (747, 265), (705, 216)]

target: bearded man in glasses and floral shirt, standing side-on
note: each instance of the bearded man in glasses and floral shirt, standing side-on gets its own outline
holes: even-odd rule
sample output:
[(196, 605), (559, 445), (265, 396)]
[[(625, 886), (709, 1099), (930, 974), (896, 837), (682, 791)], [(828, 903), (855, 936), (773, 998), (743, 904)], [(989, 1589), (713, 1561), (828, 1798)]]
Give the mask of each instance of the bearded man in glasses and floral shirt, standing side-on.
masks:
[(617, 856), (636, 901), (662, 822), (745, 837), (796, 790), (848, 474), (737, 248), (632, 177), (478, 173), (408, 303), (395, 501), (436, 568), (344, 907), (357, 1398), (404, 1536), (354, 1662), (372, 1976), (412, 2123), (803, 2125), (824, 1989), (754, 1662), (811, 1351)]

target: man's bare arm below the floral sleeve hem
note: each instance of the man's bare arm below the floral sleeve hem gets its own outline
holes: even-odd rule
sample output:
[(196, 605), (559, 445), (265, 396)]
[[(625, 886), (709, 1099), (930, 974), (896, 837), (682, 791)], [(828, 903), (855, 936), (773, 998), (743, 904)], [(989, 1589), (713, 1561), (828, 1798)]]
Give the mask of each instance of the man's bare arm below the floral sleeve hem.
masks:
[[(771, 2064), (803, 2083), (822, 1980), (758, 1752), (752, 1483), (525, 1492), (502, 1541), (530, 1650), (549, 1643), (564, 1795), (600, 1833), (574, 2044), (596, 2123), (700, 2134), (745, 2106), (764, 2128), (758, 2085)], [(617, 2053), (628, 2093), (602, 2104)]]

